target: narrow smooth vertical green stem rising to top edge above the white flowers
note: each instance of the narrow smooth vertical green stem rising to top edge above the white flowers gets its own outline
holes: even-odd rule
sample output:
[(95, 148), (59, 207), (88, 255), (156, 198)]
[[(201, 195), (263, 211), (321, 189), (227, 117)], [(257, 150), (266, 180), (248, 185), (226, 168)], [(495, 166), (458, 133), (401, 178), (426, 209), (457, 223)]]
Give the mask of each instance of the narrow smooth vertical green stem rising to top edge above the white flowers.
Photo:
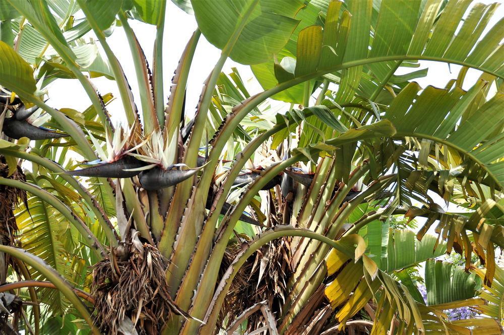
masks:
[(161, 13), (154, 42), (154, 62), (153, 62), (153, 85), (154, 85), (154, 107), (158, 118), (159, 128), (164, 127), (164, 94), (163, 94), (163, 32), (164, 19), (166, 13), (166, 0), (161, 0)]

